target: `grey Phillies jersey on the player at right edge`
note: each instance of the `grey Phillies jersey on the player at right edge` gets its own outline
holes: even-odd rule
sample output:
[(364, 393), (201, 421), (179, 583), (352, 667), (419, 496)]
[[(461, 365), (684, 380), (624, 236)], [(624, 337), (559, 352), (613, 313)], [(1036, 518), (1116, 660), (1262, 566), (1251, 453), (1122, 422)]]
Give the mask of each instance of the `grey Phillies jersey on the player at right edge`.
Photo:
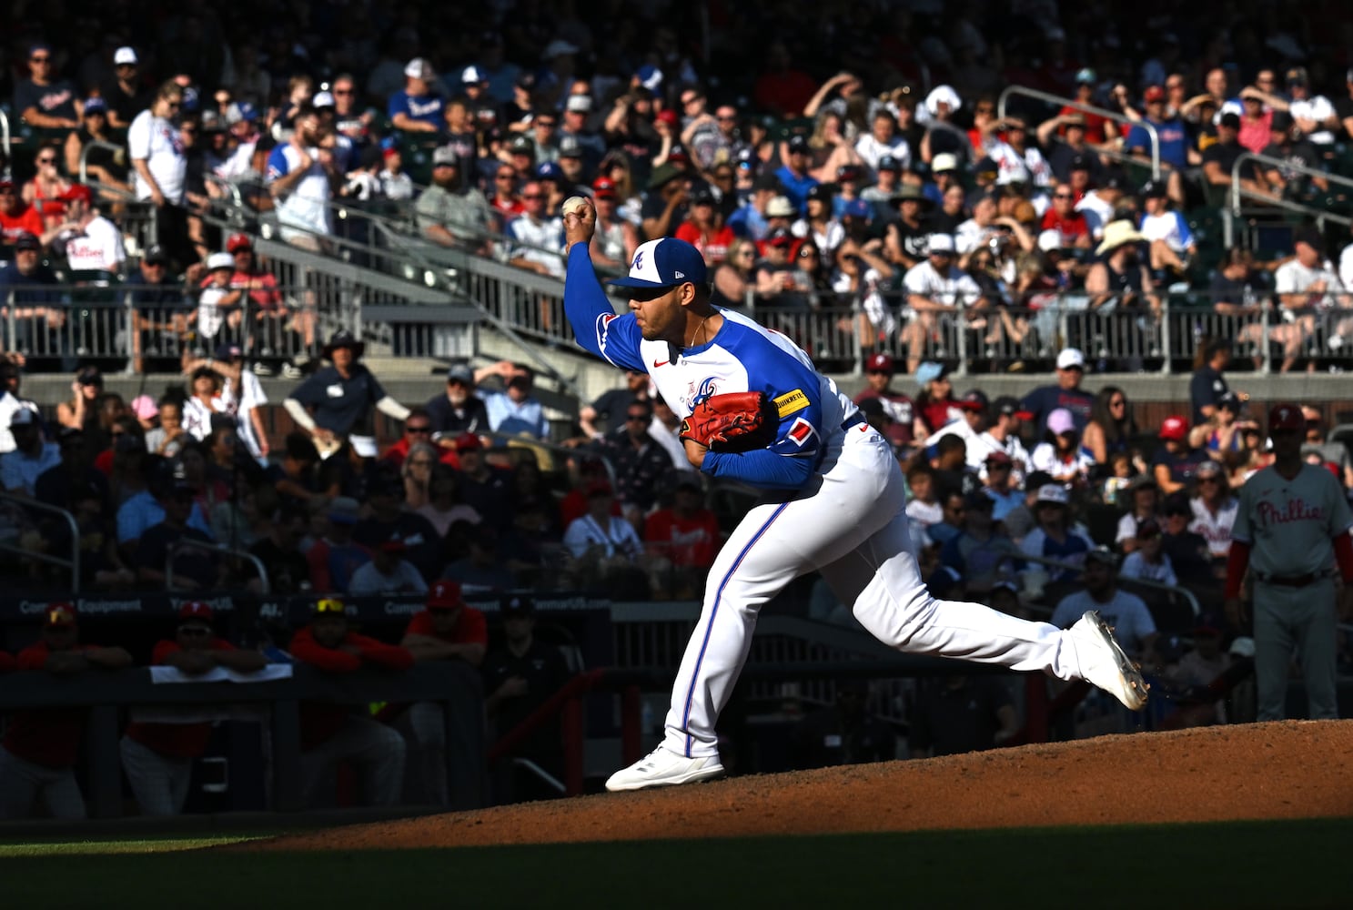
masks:
[(1241, 488), (1231, 539), (1254, 544), (1250, 567), (1260, 576), (1307, 576), (1334, 567), (1331, 538), (1349, 525), (1348, 500), (1325, 467), (1303, 464), (1291, 481), (1265, 467)]

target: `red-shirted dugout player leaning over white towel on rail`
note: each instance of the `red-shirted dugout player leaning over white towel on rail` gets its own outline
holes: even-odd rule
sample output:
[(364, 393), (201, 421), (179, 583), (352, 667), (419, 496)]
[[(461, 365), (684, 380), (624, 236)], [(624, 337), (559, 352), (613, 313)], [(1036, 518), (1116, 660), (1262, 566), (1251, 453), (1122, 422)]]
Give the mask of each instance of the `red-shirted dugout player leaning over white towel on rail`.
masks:
[[(179, 609), (173, 639), (156, 643), (156, 666), (172, 666), (184, 676), (203, 676), (225, 668), (253, 673), (267, 664), (258, 651), (241, 651), (211, 630), (211, 607), (192, 600)], [(133, 715), (135, 716), (135, 715)], [(207, 750), (210, 723), (150, 723), (133, 720), (122, 738), (122, 766), (142, 815), (177, 815), (188, 798), (192, 760)]]

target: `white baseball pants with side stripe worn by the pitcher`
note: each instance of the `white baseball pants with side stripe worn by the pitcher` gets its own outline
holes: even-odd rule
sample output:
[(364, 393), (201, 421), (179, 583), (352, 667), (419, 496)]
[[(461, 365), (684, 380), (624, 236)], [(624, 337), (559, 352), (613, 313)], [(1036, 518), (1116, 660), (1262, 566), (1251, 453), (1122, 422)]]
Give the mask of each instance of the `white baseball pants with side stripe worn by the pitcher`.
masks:
[(751, 647), (756, 613), (793, 578), (821, 570), (875, 638), (909, 654), (957, 657), (1078, 678), (1062, 631), (925, 589), (905, 513), (902, 471), (867, 425), (833, 440), (820, 477), (786, 502), (754, 506), (714, 561), (682, 657), (663, 745), (718, 754), (714, 723)]

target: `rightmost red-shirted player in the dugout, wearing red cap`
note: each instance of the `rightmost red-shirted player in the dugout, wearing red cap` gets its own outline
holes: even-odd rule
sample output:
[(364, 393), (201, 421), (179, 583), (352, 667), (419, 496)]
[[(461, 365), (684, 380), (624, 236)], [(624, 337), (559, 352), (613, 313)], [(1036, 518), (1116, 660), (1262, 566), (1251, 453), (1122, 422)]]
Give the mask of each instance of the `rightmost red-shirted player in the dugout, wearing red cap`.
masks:
[[(488, 623), (474, 607), (467, 607), (460, 585), (438, 581), (428, 592), (428, 609), (414, 613), (399, 642), (414, 661), (464, 661), (479, 666), (488, 650)], [(436, 701), (418, 701), (409, 708), (417, 762), (428, 802), (449, 804), (446, 789), (446, 718)]]

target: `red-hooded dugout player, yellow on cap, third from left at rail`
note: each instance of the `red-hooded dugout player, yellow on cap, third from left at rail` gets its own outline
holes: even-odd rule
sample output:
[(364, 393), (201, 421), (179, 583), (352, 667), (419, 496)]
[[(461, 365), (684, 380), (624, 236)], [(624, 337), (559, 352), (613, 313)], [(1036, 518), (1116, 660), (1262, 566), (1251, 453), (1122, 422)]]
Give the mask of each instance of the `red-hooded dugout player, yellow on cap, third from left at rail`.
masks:
[[(325, 597), (314, 619), (291, 639), (291, 655), (326, 673), (356, 673), (364, 666), (407, 670), (413, 654), (348, 628), (345, 604)], [(365, 706), (300, 703), (300, 772), (304, 800), (315, 796), (325, 772), (350, 761), (363, 772), (363, 789), (373, 806), (394, 806), (405, 781), (405, 738), (364, 716)]]

